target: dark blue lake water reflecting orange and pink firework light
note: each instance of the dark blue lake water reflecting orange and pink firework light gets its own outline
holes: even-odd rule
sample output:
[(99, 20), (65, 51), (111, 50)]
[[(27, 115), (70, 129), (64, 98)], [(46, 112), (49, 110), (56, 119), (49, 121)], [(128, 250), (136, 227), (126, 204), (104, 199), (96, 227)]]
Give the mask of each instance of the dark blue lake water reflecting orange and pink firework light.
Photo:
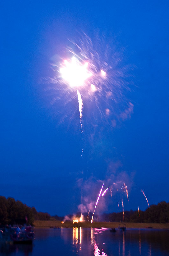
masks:
[(102, 228), (35, 228), (32, 245), (0, 244), (11, 256), (168, 256), (169, 231)]

